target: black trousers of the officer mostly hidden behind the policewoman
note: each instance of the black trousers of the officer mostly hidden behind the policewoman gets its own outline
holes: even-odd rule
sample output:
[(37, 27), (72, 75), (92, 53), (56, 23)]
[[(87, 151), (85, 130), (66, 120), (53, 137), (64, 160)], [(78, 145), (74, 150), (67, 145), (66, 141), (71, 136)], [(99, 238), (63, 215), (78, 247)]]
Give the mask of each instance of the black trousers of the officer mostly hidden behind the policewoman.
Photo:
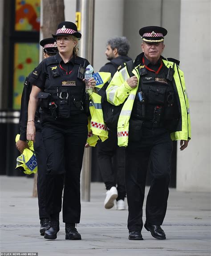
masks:
[(37, 158), (37, 197), (40, 219), (48, 218), (45, 211), (45, 173), (46, 173), (46, 154), (41, 134), (41, 123), (36, 122), (36, 142), (34, 151)]

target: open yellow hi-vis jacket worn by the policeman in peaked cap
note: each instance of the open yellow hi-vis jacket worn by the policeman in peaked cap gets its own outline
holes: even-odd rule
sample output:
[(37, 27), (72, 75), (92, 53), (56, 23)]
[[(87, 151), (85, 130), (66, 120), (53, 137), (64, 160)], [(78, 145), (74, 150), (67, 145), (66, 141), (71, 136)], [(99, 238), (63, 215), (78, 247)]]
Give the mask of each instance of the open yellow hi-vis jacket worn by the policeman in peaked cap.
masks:
[[(164, 65), (167, 68), (172, 67), (174, 62), (162, 60)], [(132, 73), (137, 77), (139, 83), (139, 72), (138, 69), (144, 66), (138, 65), (132, 70)], [(123, 65), (123, 68), (118, 69), (114, 74), (114, 77), (110, 81), (106, 89), (107, 101), (111, 104), (118, 106), (123, 103), (126, 98), (126, 102), (122, 107), (118, 119), (118, 146), (127, 146), (128, 145), (128, 136), (129, 136), (129, 120), (132, 112), (134, 100), (138, 90), (138, 86), (131, 88), (127, 79), (130, 77), (126, 65)], [(180, 129), (171, 133), (172, 140), (187, 140), (191, 138), (191, 123), (190, 123), (190, 111), (189, 111), (189, 101), (187, 97), (187, 91), (185, 87), (185, 80), (183, 71), (179, 69), (179, 66), (174, 65), (174, 77), (173, 77), (179, 95), (180, 102), (180, 120), (179, 126)], [(176, 94), (177, 94), (176, 93)]]

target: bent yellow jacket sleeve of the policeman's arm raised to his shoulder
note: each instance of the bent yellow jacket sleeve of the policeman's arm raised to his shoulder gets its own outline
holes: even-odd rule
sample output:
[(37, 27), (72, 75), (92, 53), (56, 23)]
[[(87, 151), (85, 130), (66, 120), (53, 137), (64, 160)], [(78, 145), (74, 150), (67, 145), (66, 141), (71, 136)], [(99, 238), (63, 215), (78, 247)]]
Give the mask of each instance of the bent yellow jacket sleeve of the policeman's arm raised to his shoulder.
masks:
[(107, 101), (118, 106), (130, 95), (132, 88), (128, 85), (129, 74), (126, 67), (117, 71), (106, 89)]

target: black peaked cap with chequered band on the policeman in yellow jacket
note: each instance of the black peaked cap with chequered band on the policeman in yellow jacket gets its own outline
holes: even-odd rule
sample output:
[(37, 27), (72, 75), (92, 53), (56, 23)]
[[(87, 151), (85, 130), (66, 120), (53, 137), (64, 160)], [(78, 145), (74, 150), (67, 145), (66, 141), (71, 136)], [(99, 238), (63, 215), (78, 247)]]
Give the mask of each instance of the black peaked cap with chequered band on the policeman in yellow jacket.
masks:
[(142, 40), (149, 43), (162, 42), (163, 38), (167, 34), (166, 28), (149, 26), (144, 27), (139, 30), (139, 34)]

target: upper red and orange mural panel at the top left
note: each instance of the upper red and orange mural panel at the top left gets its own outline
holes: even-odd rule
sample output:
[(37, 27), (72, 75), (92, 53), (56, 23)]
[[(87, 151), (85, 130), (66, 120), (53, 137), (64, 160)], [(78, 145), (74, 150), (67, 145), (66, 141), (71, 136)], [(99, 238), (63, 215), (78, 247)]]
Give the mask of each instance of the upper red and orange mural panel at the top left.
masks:
[(40, 1), (16, 0), (16, 31), (40, 30)]

